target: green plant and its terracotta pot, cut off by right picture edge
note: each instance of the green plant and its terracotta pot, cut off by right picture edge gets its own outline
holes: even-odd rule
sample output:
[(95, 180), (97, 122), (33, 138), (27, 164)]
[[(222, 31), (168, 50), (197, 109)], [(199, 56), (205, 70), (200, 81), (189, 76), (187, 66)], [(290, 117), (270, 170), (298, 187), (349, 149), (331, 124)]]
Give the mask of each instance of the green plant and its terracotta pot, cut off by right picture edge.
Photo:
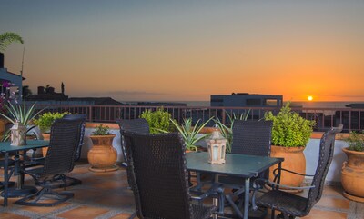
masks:
[(348, 161), (344, 162), (341, 171), (344, 196), (364, 203), (364, 133), (350, 132), (345, 141), (349, 147), (342, 149), (348, 156)]

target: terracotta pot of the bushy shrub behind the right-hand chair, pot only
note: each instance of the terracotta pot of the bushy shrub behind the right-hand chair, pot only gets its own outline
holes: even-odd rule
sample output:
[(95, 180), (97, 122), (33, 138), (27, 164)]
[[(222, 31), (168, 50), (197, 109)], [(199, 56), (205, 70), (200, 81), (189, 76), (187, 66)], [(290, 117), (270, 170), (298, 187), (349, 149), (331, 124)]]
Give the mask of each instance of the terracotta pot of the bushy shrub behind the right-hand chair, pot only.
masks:
[[(282, 157), (282, 168), (296, 172), (298, 174), (306, 174), (306, 158), (303, 154), (305, 147), (271, 147), (271, 157)], [(278, 164), (269, 169), (269, 180), (273, 181), (273, 170), (278, 168)], [(305, 177), (303, 175), (291, 174), (286, 171), (282, 171), (280, 176), (280, 184), (286, 184), (289, 186), (299, 187), (303, 183)], [(295, 193), (300, 192), (298, 190), (288, 190), (288, 192)]]

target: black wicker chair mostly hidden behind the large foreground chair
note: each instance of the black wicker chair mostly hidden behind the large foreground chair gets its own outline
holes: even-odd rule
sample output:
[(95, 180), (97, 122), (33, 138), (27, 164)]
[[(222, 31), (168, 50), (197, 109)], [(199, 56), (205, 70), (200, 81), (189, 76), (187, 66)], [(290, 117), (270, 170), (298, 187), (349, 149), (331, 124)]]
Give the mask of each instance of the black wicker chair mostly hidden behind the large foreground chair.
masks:
[(116, 123), (119, 124), (120, 127), (121, 153), (123, 154), (124, 158), (124, 162), (122, 163), (122, 165), (127, 166), (124, 132), (128, 131), (134, 133), (149, 134), (149, 124), (147, 124), (147, 120), (143, 118), (130, 119), (130, 120), (116, 120)]

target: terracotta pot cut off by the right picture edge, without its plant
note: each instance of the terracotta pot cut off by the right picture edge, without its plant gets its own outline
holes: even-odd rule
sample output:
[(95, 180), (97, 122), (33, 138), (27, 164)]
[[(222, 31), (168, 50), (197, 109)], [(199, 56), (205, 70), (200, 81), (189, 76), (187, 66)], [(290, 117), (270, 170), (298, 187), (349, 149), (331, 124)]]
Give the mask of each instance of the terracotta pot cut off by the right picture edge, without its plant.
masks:
[(341, 184), (344, 196), (350, 200), (364, 203), (364, 152), (342, 149), (348, 156), (341, 170)]

